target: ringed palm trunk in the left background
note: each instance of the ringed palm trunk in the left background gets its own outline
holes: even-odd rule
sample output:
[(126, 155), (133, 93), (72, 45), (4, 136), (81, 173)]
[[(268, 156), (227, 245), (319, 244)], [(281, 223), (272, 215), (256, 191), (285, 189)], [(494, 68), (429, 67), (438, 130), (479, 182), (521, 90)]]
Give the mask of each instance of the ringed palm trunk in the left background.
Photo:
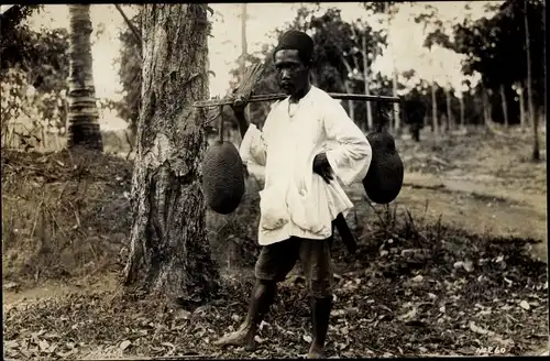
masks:
[(89, 4), (69, 4), (69, 113), (67, 146), (84, 145), (102, 151), (99, 112), (94, 86)]

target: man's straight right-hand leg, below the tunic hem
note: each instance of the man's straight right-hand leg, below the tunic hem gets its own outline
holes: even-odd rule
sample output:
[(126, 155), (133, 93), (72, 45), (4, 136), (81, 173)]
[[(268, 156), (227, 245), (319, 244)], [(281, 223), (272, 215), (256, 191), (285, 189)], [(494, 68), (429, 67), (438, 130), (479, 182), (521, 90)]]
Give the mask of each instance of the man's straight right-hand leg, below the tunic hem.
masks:
[(302, 240), (300, 262), (311, 299), (312, 342), (309, 358), (323, 357), (324, 341), (329, 329), (332, 309), (332, 261), (330, 258), (331, 238), (326, 240)]

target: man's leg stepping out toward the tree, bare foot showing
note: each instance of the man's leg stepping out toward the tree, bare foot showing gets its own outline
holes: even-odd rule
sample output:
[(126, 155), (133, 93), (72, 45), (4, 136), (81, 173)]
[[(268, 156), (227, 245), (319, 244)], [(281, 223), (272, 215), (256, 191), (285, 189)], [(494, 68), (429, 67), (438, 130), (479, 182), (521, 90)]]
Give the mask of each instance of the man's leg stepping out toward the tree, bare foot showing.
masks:
[(246, 351), (255, 349), (254, 337), (263, 318), (270, 310), (277, 291), (277, 282), (285, 280), (298, 259), (299, 241), (289, 239), (262, 248), (255, 265), (256, 283), (252, 291), (249, 313), (239, 329), (216, 342), (218, 346), (244, 346)]

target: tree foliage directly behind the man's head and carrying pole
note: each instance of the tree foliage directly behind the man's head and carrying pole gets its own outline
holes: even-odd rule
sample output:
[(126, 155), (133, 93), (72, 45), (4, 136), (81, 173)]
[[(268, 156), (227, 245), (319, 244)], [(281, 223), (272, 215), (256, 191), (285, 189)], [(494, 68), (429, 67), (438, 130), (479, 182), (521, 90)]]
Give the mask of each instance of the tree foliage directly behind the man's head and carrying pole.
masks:
[[(330, 8), (324, 13), (317, 15), (316, 9), (299, 8), (295, 19), (287, 25), (274, 31), (278, 40), (284, 32), (295, 29), (307, 32), (311, 35), (314, 50), (314, 84), (324, 91), (346, 92), (344, 84), (348, 81), (351, 91), (363, 94), (363, 58), (361, 52), (362, 36), (366, 36), (367, 42), (367, 66), (371, 67), (376, 56), (383, 54), (386, 45), (386, 37), (381, 32), (375, 32), (367, 23), (358, 19), (356, 22), (345, 22), (341, 12), (337, 8)], [(273, 66), (273, 51), (275, 45), (267, 45), (257, 54), (250, 54), (249, 64), (264, 62), (264, 75), (255, 87), (256, 94), (278, 92)], [(234, 68), (232, 86), (239, 81), (241, 69)], [(374, 76), (370, 84), (371, 89), (381, 95), (392, 92), (391, 80), (383, 76)], [(348, 103), (343, 102), (344, 108)], [(270, 105), (266, 102), (252, 103), (251, 120), (262, 124)], [(366, 109), (364, 102), (354, 105), (356, 119), (366, 121)], [(387, 107), (385, 107), (386, 109)], [(387, 108), (388, 109), (388, 108)], [(386, 109), (386, 110), (387, 110)]]

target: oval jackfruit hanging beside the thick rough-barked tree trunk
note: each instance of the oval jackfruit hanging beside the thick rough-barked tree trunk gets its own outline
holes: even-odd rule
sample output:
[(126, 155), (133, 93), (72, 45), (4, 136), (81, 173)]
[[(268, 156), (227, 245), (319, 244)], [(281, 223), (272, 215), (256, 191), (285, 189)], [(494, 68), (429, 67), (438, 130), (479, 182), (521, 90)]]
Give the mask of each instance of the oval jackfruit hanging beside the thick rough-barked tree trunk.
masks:
[(244, 165), (231, 142), (216, 142), (202, 161), (202, 192), (210, 209), (229, 215), (244, 195)]

